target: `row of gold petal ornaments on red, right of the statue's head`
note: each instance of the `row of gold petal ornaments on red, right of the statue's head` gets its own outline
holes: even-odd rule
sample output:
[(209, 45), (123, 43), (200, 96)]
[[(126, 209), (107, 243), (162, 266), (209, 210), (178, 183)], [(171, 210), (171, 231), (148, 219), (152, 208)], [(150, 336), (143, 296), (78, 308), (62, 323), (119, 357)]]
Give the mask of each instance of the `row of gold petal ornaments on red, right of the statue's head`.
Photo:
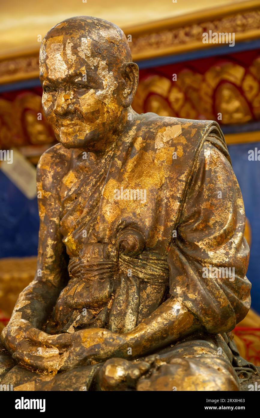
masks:
[(133, 107), (161, 116), (219, 120), (223, 125), (259, 119), (258, 61), (247, 70), (231, 62), (213, 65), (204, 74), (184, 68), (174, 82), (149, 76), (139, 83)]

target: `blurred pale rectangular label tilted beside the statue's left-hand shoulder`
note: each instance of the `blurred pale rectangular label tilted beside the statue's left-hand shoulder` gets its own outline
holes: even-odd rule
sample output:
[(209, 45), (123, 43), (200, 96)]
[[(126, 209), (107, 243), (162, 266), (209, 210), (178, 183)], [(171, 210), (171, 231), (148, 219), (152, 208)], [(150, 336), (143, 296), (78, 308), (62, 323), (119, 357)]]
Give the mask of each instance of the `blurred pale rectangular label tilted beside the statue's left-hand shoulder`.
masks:
[(36, 197), (36, 168), (18, 150), (13, 150), (13, 163), (1, 161), (0, 169), (28, 199)]

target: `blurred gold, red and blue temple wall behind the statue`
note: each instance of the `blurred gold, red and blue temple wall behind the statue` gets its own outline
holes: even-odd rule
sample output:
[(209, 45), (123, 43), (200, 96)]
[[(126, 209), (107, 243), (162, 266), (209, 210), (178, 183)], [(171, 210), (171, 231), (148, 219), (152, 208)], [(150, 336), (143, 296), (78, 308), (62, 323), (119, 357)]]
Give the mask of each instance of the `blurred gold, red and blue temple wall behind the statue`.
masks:
[[(111, 20), (124, 30), (140, 69), (136, 112), (220, 123), (245, 203), (251, 250), (252, 309), (237, 325), (235, 339), (242, 356), (260, 364), (259, 0), (13, 0), (1, 5), (0, 150), (15, 149), (19, 163), (0, 161), (0, 330), (35, 274), (35, 166), (55, 143), (41, 109), (40, 41), (53, 25), (76, 15)], [(235, 33), (235, 45), (203, 43), (203, 33)]]

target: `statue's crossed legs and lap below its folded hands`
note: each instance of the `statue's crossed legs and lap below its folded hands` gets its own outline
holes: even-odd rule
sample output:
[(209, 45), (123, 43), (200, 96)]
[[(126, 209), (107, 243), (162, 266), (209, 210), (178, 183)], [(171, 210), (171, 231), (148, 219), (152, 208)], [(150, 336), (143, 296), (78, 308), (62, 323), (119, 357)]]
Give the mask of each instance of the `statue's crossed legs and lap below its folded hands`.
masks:
[[(217, 391), (239, 390), (232, 354), (223, 338), (190, 337), (156, 354), (133, 361), (111, 358), (106, 362), (76, 367), (57, 375), (43, 375), (15, 365), (1, 356), (2, 385), (13, 390), (139, 390), (139, 391)], [(220, 347), (221, 345), (221, 347)]]

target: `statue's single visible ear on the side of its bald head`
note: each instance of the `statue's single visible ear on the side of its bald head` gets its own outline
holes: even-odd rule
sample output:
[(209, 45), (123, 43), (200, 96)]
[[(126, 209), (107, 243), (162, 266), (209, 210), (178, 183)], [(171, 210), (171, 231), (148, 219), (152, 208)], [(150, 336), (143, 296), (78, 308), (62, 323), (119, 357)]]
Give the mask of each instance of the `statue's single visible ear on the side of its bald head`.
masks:
[(139, 68), (134, 62), (126, 62), (121, 66), (121, 76), (124, 79), (122, 104), (129, 107), (134, 99), (139, 80)]

